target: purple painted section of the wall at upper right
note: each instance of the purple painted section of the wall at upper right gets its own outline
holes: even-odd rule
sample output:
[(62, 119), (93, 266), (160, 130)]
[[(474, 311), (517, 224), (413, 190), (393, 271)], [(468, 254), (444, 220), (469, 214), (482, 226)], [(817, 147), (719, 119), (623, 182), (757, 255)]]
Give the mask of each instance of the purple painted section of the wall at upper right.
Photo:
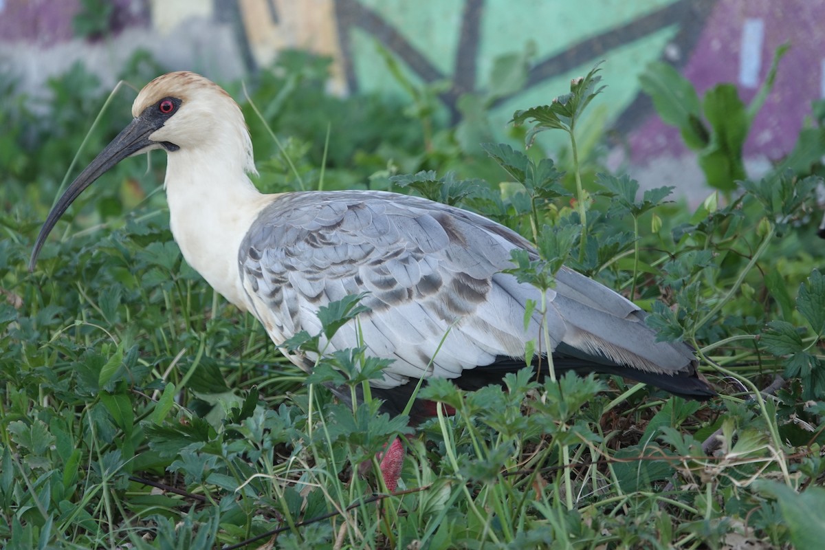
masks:
[[(721, 0), (709, 17), (682, 72), (700, 97), (719, 82), (735, 82), (747, 104), (766, 78), (774, 50), (785, 42), (791, 45), (780, 63), (773, 91), (753, 122), (746, 157), (776, 160), (790, 152), (804, 117), (811, 112), (811, 101), (823, 96), (825, 34), (820, 21), (825, 21), (821, 0)], [(758, 68), (742, 68), (742, 63), (755, 60)], [(748, 73), (755, 69), (757, 85), (753, 86)], [(747, 82), (739, 82), (743, 74)], [(678, 130), (664, 125), (655, 113), (634, 130), (629, 142), (634, 162), (686, 153)]]

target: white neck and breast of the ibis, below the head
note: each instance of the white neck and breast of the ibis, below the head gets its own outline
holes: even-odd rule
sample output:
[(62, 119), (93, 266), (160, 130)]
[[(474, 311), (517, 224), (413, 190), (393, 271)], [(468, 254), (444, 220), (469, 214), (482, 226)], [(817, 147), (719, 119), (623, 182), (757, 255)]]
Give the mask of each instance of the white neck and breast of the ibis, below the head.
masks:
[(194, 148), (169, 153), (166, 187), (172, 236), (183, 257), (213, 289), (247, 309), (238, 250), (272, 195), (262, 195), (233, 151)]

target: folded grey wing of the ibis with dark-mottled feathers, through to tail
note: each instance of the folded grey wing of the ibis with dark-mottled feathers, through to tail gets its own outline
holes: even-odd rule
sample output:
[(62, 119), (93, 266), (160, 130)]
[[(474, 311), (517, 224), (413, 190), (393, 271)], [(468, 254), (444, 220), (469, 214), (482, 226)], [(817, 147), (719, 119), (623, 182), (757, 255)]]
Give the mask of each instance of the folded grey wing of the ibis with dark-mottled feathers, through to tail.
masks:
[[(429, 200), (375, 191), (280, 195), (262, 210), (239, 250), (250, 310), (276, 344), (320, 331), (320, 306), (367, 292), (370, 308), (328, 342), (394, 360), (376, 387), (410, 378), (455, 378), (540, 342), (650, 372), (690, 369), (685, 346), (655, 342), (633, 303), (563, 268), (546, 315), (525, 319), (540, 292), (502, 270), (530, 244), (503, 226)], [(567, 349), (567, 348), (566, 348)], [(309, 358), (310, 360), (312, 358)], [(293, 358), (301, 362), (301, 358)]]

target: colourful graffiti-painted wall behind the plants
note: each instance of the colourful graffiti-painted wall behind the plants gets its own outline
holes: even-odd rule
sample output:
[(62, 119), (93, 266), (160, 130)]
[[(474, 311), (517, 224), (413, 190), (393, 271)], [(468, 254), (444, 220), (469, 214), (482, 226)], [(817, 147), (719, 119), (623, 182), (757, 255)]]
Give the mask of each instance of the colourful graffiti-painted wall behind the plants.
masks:
[[(503, 136), (514, 110), (550, 101), (604, 60), (600, 124), (620, 134), (620, 160), (644, 168), (686, 155), (640, 91), (647, 63), (672, 63), (700, 95), (733, 82), (747, 103), (790, 42), (745, 146), (758, 167), (790, 151), (825, 94), (823, 20), (825, 0), (0, 0), (0, 62), (36, 87), (76, 59), (105, 78), (140, 46), (171, 68), (238, 78), (303, 48), (332, 57), (333, 92), (403, 93), (390, 54), (410, 82), (446, 82), (438, 96), (453, 121), (461, 96), (497, 87), (492, 120)], [(529, 67), (512, 87), (493, 75), (507, 55)]]

